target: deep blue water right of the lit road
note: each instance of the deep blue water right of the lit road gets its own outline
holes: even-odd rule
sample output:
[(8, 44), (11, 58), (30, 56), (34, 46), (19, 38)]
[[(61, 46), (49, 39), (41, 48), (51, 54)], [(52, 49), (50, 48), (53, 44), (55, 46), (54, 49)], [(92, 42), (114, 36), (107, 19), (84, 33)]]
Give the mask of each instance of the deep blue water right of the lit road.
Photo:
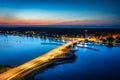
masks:
[(79, 48), (74, 63), (57, 65), (37, 74), (35, 80), (120, 80), (120, 47)]

